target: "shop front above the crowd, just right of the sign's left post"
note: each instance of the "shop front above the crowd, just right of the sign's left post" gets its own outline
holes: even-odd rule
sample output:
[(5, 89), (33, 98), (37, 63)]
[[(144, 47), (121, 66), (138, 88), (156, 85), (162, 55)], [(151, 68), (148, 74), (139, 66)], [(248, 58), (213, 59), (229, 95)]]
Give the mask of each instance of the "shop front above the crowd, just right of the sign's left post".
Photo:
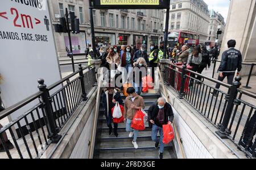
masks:
[(115, 34), (105, 33), (105, 32), (96, 32), (95, 41), (96, 41), (96, 46), (115, 45)]

